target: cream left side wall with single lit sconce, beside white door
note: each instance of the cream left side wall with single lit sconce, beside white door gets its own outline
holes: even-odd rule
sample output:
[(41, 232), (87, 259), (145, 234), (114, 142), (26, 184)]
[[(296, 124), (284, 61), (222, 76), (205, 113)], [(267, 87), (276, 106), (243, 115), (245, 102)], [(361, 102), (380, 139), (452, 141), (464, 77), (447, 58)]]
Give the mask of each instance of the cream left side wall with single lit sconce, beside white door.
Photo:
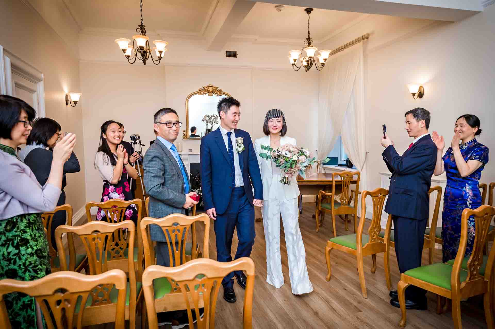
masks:
[[(84, 94), (76, 107), (65, 106), (65, 93), (80, 92), (79, 59), (48, 23), (29, 5), (19, 0), (0, 0), (0, 45), (44, 74), (46, 115), (56, 120), (62, 130), (77, 135), (74, 149), (81, 172), (67, 174), (67, 203), (74, 213), (86, 200), (81, 124)], [(53, 12), (52, 15), (56, 15)], [(60, 17), (62, 20), (63, 17)]]

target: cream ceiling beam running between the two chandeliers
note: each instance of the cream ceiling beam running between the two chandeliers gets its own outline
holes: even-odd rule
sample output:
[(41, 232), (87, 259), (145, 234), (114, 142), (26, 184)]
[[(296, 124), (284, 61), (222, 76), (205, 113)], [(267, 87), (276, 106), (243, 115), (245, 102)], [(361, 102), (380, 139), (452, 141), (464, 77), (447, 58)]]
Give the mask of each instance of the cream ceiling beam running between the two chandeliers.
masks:
[(247, 0), (219, 0), (204, 32), (206, 50), (222, 50), (255, 3)]

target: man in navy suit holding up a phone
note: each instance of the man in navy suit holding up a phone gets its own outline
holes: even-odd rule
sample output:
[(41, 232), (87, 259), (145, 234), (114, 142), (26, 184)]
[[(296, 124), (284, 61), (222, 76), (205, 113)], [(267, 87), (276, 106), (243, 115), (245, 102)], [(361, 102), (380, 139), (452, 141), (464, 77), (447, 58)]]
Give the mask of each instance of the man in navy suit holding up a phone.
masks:
[[(436, 163), (436, 146), (428, 133), (430, 112), (415, 108), (405, 114), (405, 129), (414, 138), (399, 156), (394, 142), (385, 133), (383, 160), (392, 177), (385, 212), (394, 219), (394, 239), (400, 273), (421, 266), (424, 234), (430, 212), (428, 190)], [(405, 291), (406, 309), (426, 310), (426, 290), (409, 286)], [(390, 292), (390, 303), (400, 307), (397, 291)]]

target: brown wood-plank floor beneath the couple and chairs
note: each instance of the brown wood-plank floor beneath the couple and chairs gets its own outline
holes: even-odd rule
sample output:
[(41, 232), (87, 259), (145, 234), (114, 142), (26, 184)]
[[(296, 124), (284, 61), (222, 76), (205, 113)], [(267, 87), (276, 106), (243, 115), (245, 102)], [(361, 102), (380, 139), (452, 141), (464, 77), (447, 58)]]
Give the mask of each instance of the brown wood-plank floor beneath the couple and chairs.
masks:
[[(327, 282), (325, 280), (327, 268), (323, 250), (326, 246), (326, 241), (331, 235), (333, 237), (331, 233), (332, 225), (327, 216), (323, 227), (320, 228), (320, 232), (316, 233), (315, 219), (311, 216), (313, 213), (314, 205), (304, 204), (303, 214), (299, 217), (299, 227), (306, 248), (309, 279), (314, 288), (313, 292), (300, 296), (291, 292), (283, 229), (280, 246), (285, 285), (277, 289), (266, 283), (266, 251), (263, 223), (255, 223), (256, 239), (251, 253), (251, 258), (256, 265), (252, 310), (253, 328), (398, 328), (400, 309), (390, 305), (389, 290), (385, 283), (383, 269), (383, 254), (377, 255), (378, 268), (375, 274), (370, 271), (372, 266), (371, 257), (364, 259), (365, 280), (368, 289), (367, 299), (361, 295), (355, 258), (344, 252), (339, 250), (332, 251), (332, 279)], [(215, 234), (213, 225), (210, 227), (212, 230), (209, 235), (209, 256), (212, 259), (216, 259)], [(344, 222), (337, 218), (338, 235), (352, 234), (352, 225), (349, 225), (349, 228), (350, 230), (346, 231)], [(198, 234), (198, 237), (202, 237), (202, 232)], [(237, 235), (234, 234), (232, 254), (235, 254), (237, 242)], [(79, 247), (82, 248), (82, 246)], [(442, 251), (435, 250), (434, 262), (441, 262), (441, 260)], [(427, 252), (423, 252), (423, 264), (428, 264)], [(390, 269), (392, 286), (393, 289), (396, 289), (396, 284), (399, 281), (399, 271), (394, 250), (391, 250)], [(223, 300), (223, 289), (220, 289), (215, 315), (215, 328), (217, 329), (242, 328), (244, 290), (237, 283), (234, 284), (234, 289), (237, 295), (237, 302), (232, 304)], [(453, 328), (450, 312), (443, 315), (436, 314), (436, 295), (428, 292), (427, 297), (427, 311), (407, 311), (406, 328)], [(461, 311), (463, 328), (487, 328), (482, 298), (473, 297), (466, 302), (462, 302)], [(95, 326), (95, 328), (101, 327)], [(171, 327), (166, 326), (163, 328)]]

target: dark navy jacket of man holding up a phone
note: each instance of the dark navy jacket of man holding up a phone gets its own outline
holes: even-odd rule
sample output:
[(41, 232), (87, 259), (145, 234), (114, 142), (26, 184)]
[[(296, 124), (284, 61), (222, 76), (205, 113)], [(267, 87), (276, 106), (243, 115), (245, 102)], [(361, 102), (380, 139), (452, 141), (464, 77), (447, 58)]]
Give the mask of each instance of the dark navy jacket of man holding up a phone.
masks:
[(437, 147), (430, 135), (421, 137), (402, 156), (393, 145), (383, 152), (383, 160), (392, 172), (385, 212), (406, 218), (428, 219), (430, 189), (437, 162)]

